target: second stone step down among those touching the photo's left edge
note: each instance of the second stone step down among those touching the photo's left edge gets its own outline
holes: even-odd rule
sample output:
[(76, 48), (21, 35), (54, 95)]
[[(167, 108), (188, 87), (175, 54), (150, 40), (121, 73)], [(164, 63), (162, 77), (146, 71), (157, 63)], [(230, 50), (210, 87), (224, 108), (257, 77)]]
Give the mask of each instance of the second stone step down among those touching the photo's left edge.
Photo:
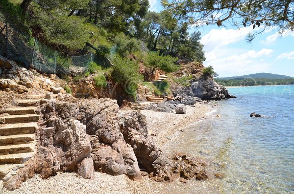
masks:
[(0, 127), (0, 135), (16, 135), (34, 133), (39, 129), (37, 123), (15, 123)]

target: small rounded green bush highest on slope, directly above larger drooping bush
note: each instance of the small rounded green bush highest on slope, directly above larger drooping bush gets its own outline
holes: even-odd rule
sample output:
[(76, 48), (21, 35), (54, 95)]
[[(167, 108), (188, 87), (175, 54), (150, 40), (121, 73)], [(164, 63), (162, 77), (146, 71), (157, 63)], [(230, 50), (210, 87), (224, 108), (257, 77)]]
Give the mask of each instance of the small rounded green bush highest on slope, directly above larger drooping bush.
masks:
[(121, 57), (126, 57), (129, 53), (137, 52), (141, 49), (141, 41), (135, 38), (129, 38), (123, 33), (115, 38), (116, 51)]

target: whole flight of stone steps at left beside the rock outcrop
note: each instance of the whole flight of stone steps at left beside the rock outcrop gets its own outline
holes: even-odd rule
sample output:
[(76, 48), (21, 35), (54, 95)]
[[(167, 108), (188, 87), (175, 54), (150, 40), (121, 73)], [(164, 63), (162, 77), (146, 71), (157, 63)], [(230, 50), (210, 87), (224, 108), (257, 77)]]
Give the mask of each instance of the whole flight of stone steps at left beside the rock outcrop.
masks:
[(19, 107), (7, 108), (7, 115), (0, 116), (3, 124), (0, 125), (0, 182), (8, 181), (34, 157), (37, 145), (34, 132), (38, 129), (40, 117), (34, 106), (44, 96), (19, 100)]

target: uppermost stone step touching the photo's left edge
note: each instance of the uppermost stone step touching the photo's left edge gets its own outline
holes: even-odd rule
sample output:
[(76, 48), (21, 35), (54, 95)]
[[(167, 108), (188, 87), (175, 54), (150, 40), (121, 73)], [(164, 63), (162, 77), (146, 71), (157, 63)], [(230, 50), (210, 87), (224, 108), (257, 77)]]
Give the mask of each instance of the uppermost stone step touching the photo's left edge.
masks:
[(38, 114), (9, 115), (0, 117), (0, 120), (4, 120), (5, 124), (37, 122), (39, 119), (40, 115)]

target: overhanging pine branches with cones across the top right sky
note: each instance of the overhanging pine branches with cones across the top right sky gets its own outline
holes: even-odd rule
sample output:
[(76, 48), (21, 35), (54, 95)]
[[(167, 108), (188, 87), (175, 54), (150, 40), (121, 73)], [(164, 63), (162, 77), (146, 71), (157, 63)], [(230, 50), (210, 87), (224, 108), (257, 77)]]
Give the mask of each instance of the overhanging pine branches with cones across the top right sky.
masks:
[[(268, 26), (280, 31), (294, 29), (293, 0), (161, 0), (163, 6), (178, 19), (192, 22), (196, 27), (225, 22), (238, 27)], [(217, 17), (216, 17), (217, 16)], [(255, 34), (256, 34), (255, 33)]]

